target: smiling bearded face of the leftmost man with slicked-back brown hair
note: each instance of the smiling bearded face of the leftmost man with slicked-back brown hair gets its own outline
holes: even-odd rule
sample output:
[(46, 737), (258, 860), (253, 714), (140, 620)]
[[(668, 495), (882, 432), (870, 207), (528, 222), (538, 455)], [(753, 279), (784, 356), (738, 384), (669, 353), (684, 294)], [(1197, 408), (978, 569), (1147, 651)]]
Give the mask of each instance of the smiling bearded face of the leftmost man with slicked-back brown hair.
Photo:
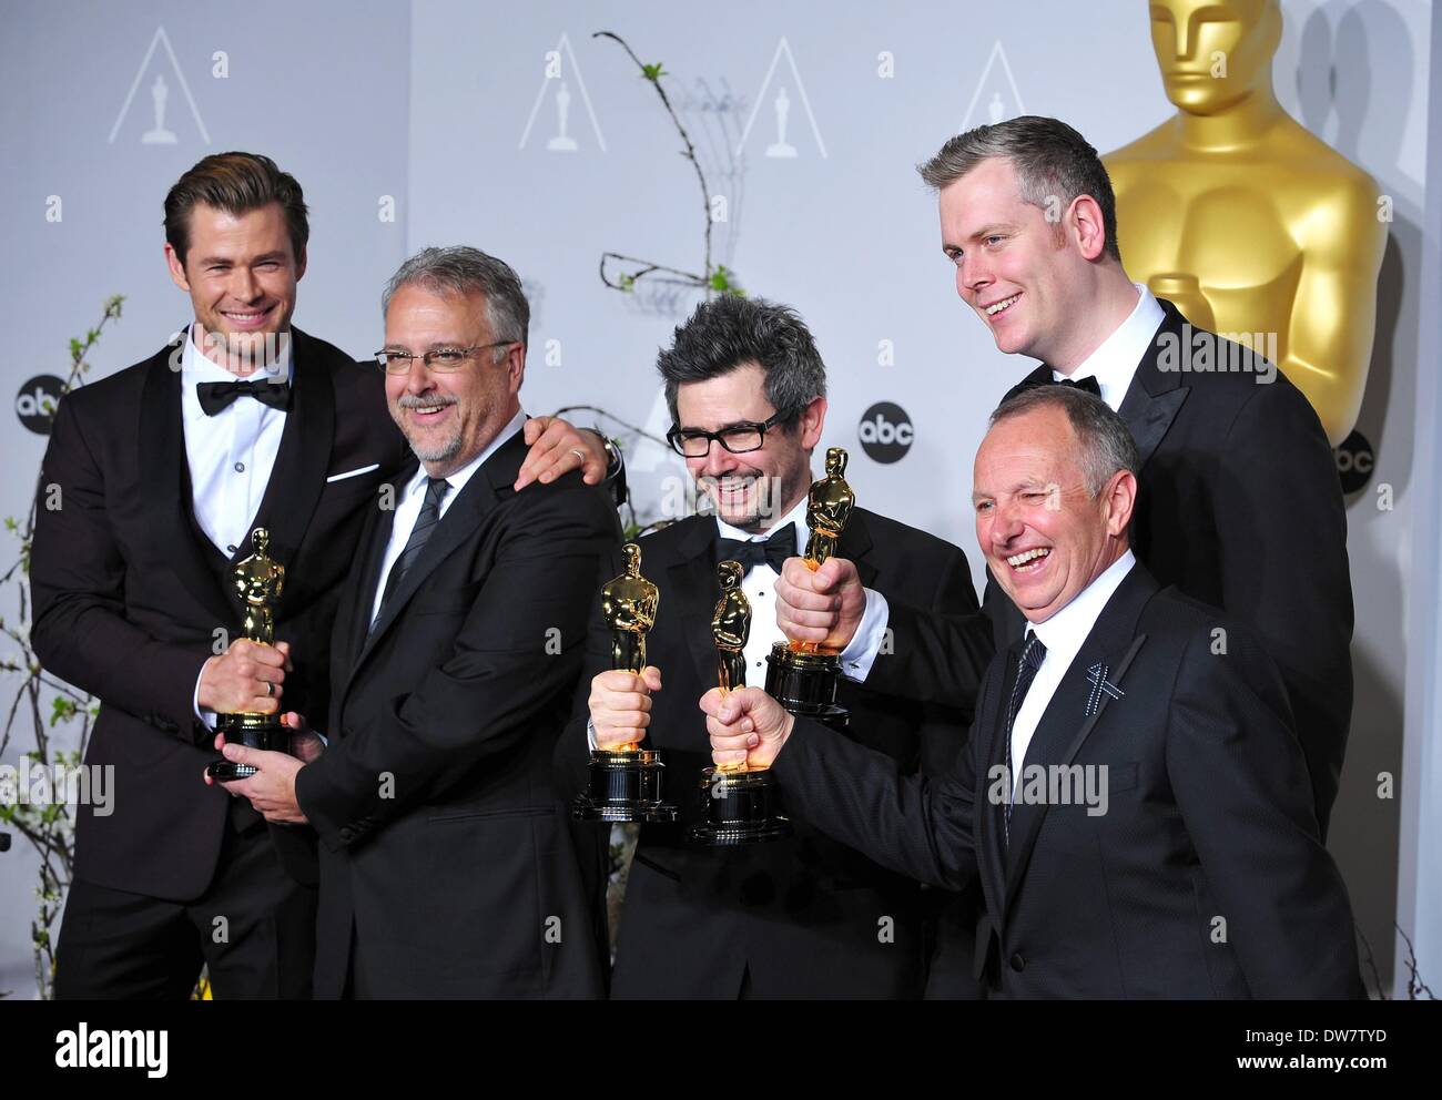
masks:
[(198, 346), (221, 366), (248, 373), (265, 362), (267, 334), (274, 347), (274, 336), (290, 330), (306, 257), (293, 254), (278, 202), (242, 213), (196, 203), (185, 262), (169, 244), (166, 262), (203, 329)]

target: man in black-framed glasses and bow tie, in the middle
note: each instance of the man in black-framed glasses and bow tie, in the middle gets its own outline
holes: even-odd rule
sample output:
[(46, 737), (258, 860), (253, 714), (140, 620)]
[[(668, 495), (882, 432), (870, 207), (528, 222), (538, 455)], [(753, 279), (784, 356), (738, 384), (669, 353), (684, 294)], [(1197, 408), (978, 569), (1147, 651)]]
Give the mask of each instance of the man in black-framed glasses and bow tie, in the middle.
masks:
[[(617, 555), (587, 594), (593, 608), (587, 676), (561, 761), (575, 787), (588, 748), (643, 738), (662, 753), (676, 825), (645, 825), (622, 911), (613, 998), (907, 998), (924, 986), (930, 900), (908, 882), (805, 825), (786, 840), (750, 848), (692, 848), (707, 764), (695, 701), (717, 683), (711, 614), (718, 561), (747, 568), (753, 607), (746, 646), (751, 683), (782, 640), (773, 585), (806, 544), (810, 456), (826, 417), (825, 366), (805, 323), (789, 309), (724, 297), (696, 309), (659, 356), (675, 427), (669, 440), (715, 515), (692, 515), (642, 538), (642, 574), (659, 588), (650, 666), (610, 670), (601, 582), (623, 572)], [(871, 646), (885, 598), (945, 614), (978, 610), (962, 552), (921, 531), (855, 509), (839, 551), (865, 588)], [(862, 646), (858, 646), (861, 649)], [(883, 649), (880, 639), (871, 646)], [(842, 653), (848, 676), (865, 667)], [(890, 660), (884, 653), (871, 660)], [(665, 683), (665, 686), (662, 686)], [(862, 744), (903, 771), (949, 766), (965, 737), (970, 701), (919, 704), (844, 682), (841, 702)], [(966, 979), (972, 990), (975, 983)], [(968, 990), (959, 990), (968, 992)]]

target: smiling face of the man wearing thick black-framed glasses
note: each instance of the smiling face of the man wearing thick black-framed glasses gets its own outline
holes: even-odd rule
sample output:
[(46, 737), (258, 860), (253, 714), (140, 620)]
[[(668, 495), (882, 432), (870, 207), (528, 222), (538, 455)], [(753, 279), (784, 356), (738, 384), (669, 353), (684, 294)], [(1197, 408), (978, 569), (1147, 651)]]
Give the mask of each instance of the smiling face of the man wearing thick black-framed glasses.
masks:
[[(760, 363), (704, 382), (684, 382), (676, 389), (682, 430), (720, 431), (743, 421), (761, 424), (776, 412), (766, 399), (766, 372)], [(799, 421), (770, 428), (760, 450), (731, 454), (712, 440), (705, 458), (686, 458), (686, 470), (722, 520), (753, 533), (766, 531), (810, 487), (810, 451), (820, 441), (825, 420), (826, 398), (816, 398)]]

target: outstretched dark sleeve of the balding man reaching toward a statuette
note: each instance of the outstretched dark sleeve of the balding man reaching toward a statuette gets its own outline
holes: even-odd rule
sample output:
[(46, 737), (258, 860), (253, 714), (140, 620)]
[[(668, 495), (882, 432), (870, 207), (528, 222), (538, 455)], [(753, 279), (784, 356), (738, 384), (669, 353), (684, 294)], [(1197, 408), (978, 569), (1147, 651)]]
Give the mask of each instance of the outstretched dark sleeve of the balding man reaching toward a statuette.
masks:
[(953, 770), (927, 779), (797, 718), (771, 768), (792, 815), (897, 874), (960, 891), (976, 878), (976, 742), (973, 724)]

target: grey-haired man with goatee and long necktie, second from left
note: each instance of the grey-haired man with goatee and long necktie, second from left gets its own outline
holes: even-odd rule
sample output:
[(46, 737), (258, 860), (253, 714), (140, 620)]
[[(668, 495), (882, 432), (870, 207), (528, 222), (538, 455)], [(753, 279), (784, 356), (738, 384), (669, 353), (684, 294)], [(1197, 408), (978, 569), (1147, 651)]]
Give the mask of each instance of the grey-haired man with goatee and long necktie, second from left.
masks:
[(225, 784), (320, 836), (316, 995), (591, 998), (604, 836), (554, 783), (585, 608), (620, 545), (607, 493), (523, 493), (521, 281), (428, 248), (385, 294), (385, 389), (418, 458), (356, 544), (330, 647), (329, 744), (225, 745)]

